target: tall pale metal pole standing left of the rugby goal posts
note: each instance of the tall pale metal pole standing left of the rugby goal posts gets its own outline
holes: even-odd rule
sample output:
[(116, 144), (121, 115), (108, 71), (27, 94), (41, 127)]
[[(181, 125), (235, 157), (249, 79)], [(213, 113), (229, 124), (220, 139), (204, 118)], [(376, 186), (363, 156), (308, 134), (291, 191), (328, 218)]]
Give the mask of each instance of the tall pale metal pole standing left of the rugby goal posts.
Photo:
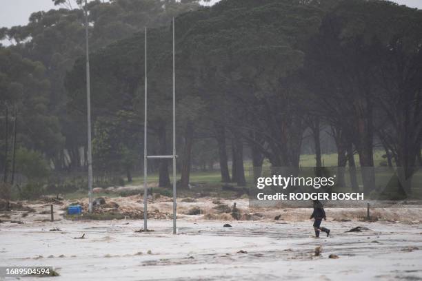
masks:
[(88, 3), (85, 0), (85, 44), (86, 44), (86, 104), (88, 119), (88, 209), (92, 212), (92, 144), (91, 144), (91, 92), (90, 92), (90, 54), (88, 41)]

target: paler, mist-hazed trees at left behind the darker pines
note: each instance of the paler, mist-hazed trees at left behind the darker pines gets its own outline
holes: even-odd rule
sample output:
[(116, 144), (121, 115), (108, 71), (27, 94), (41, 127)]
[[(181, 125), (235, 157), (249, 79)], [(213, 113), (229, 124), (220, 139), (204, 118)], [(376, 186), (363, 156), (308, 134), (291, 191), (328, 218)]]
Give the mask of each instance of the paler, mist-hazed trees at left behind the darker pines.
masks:
[[(8, 47), (0, 45), (0, 115), (6, 116), (7, 106), (12, 119), (14, 108), (17, 108), (17, 146), (41, 152), (54, 170), (73, 171), (86, 165), (86, 136), (83, 133), (86, 132), (86, 107), (69, 103), (64, 80), (74, 61), (84, 54), (84, 1), (77, 0), (76, 4), (68, 0), (53, 2), (58, 6), (57, 10), (34, 12), (27, 25), (0, 28), (0, 40), (10, 42)], [(197, 0), (89, 1), (90, 49), (100, 50), (143, 30), (145, 25), (167, 24), (177, 14), (197, 8)], [(98, 101), (94, 100), (94, 107), (101, 107)], [(121, 117), (126, 118), (123, 115)], [(106, 131), (121, 132), (121, 127), (113, 127), (117, 123), (106, 118), (96, 121), (99, 134), (95, 142), (104, 143), (104, 138), (110, 141)], [(0, 125), (0, 167), (3, 171), (6, 166), (6, 175), (12, 173), (11, 165), (7, 165), (12, 163), (12, 145), (6, 147), (6, 143), (12, 142), (12, 134), (6, 136), (6, 129), (12, 132), (12, 124), (9, 122), (6, 126), (1, 122)], [(96, 163), (114, 167), (129, 167), (134, 162), (132, 155), (140, 152), (130, 142), (119, 146), (119, 158), (111, 152), (105, 154), (103, 147), (97, 145), (95, 148)], [(103, 161), (110, 157), (114, 163)], [(102, 167), (99, 165), (97, 169)]]

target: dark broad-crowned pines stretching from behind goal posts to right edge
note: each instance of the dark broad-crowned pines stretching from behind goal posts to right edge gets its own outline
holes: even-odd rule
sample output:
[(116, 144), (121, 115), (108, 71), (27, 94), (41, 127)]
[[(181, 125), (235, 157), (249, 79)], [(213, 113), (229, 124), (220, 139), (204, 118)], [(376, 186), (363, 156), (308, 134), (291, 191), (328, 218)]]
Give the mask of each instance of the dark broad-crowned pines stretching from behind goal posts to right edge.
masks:
[[(245, 145), (254, 167), (264, 158), (273, 167), (298, 167), (307, 128), (321, 166), (322, 125), (332, 128), (339, 167), (354, 167), (359, 155), (366, 190), (375, 186), (376, 143), (411, 178), (421, 164), (421, 16), (388, 1), (228, 0), (177, 17), (181, 184), (188, 183), (184, 167), (195, 136), (212, 134), (223, 181), (245, 185)], [(157, 28), (148, 36), (150, 128), (160, 154), (168, 149), (169, 32)], [(94, 54), (94, 95), (113, 101), (102, 109), (124, 107), (142, 116), (142, 54), (141, 33)], [(68, 89), (78, 96), (83, 83), (80, 61)], [(161, 166), (160, 183), (167, 185), (168, 165)], [(410, 185), (403, 188), (410, 193)]]

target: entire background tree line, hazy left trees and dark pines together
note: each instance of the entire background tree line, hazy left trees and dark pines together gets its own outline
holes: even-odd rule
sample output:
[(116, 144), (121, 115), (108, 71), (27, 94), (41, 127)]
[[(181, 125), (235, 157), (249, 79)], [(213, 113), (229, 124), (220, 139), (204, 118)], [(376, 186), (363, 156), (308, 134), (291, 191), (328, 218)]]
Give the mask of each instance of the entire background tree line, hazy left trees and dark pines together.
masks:
[[(421, 165), (420, 10), (376, 0), (221, 0), (210, 8), (197, 1), (115, 0), (94, 1), (89, 9), (97, 171), (124, 169), (130, 178), (130, 171), (139, 169), (144, 35), (138, 31), (144, 25), (157, 27), (148, 32), (148, 134), (154, 136), (148, 147), (152, 153), (168, 153), (168, 23), (177, 14), (181, 187), (189, 183), (192, 158), (205, 157), (208, 147), (214, 156), (206, 157), (219, 161), (223, 182), (245, 185), (246, 154), (257, 171), (264, 159), (272, 167), (299, 167), (305, 132), (312, 132), (315, 165), (321, 167), (323, 126), (331, 128), (339, 167), (355, 167), (353, 156), (359, 155), (365, 190), (376, 186), (374, 145), (383, 147), (390, 165), (401, 167), (403, 179)], [(63, 140), (54, 141), (54, 152), (42, 151), (56, 169), (83, 165), (81, 17), (79, 9), (33, 14), (26, 28), (34, 31), (5, 33), (19, 43), (8, 52), (41, 61), (48, 72), (48, 87), (54, 89), (47, 91), (48, 114), (59, 120)], [(152, 168), (159, 170), (159, 184), (170, 185), (168, 162), (156, 164)], [(403, 189), (411, 192), (410, 185)]]

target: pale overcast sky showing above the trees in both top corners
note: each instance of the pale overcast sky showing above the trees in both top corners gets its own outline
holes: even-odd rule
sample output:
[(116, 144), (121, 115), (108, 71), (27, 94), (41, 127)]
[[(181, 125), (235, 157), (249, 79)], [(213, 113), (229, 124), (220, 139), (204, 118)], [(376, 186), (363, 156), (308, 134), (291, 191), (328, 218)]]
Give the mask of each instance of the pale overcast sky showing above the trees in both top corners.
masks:
[[(395, 0), (394, 2), (422, 9), (422, 0)], [(57, 7), (54, 7), (52, 0), (0, 0), (0, 27), (25, 25), (32, 12), (53, 8)]]

